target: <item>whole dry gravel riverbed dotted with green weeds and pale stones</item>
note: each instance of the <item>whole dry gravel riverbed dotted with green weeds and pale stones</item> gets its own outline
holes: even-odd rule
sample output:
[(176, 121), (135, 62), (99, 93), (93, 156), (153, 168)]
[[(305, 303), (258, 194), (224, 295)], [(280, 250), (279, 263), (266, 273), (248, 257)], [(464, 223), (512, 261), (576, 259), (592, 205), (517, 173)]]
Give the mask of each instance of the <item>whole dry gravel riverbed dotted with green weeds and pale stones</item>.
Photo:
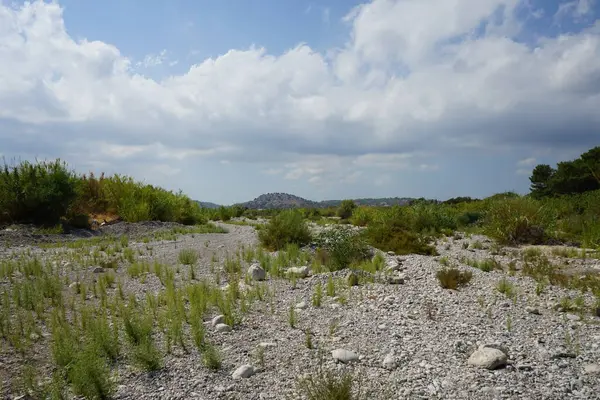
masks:
[[(531, 277), (545, 263), (597, 276), (596, 254), (457, 234), (435, 257), (379, 252), (383, 272), (351, 286), (308, 252), (261, 251), (252, 226), (219, 226), (228, 232), (120, 223), (62, 242), (3, 231), (2, 398), (73, 398), (90, 385), (65, 372), (77, 366), (105, 374), (116, 399), (302, 398), (302, 379), (327, 371), (351, 374), (365, 399), (600, 399), (597, 299)], [(436, 274), (451, 266), (471, 281), (442, 288)], [(97, 369), (56, 346), (86, 312), (115, 338), (98, 339), (115, 353)], [(133, 332), (146, 320), (151, 342)], [(88, 349), (82, 332), (73, 343)]]

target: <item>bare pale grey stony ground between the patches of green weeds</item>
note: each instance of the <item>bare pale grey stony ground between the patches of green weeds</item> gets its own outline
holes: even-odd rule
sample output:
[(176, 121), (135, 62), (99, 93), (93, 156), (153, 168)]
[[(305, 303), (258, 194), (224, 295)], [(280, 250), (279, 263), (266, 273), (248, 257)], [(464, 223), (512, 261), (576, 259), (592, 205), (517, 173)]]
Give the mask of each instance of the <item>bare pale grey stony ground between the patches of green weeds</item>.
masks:
[[(178, 266), (178, 282), (189, 275), (189, 267), (178, 262), (180, 250), (195, 249), (200, 255), (194, 266), (197, 279), (216, 281), (218, 276), (219, 285), (225, 286), (230, 282), (219, 272), (225, 260), (256, 246), (257, 236), (251, 226), (223, 226), (228, 233), (179, 235), (176, 240), (144, 238), (148, 231), (170, 226), (107, 228), (132, 235), (128, 247), (138, 260)], [(61, 262), (66, 251), (26, 244), (26, 239), (11, 235), (11, 243), (19, 245), (2, 250), (3, 259), (28, 251)], [(267, 274), (264, 281), (242, 281), (242, 290), (262, 285), (268, 295), (254, 302), (233, 329), (215, 326), (217, 312), (206, 316), (207, 338), (222, 354), (220, 370), (207, 369), (192, 345), (187, 352), (175, 348), (159, 371), (119, 364), (114, 398), (297, 398), (298, 379), (322, 375), (324, 368), (351, 373), (365, 399), (600, 399), (600, 317), (592, 294), (540, 287), (520, 273), (526, 250), (499, 249), (485, 237), (456, 235), (439, 241), (437, 249), (436, 257), (385, 254), (387, 267), (398, 278), (394, 283), (362, 281), (349, 287), (346, 271), (311, 271), (297, 280)], [(543, 251), (572, 268), (600, 273), (597, 258)], [(512, 273), (467, 265), (489, 258), (511, 265)], [(244, 261), (244, 271), (253, 262)], [(436, 278), (442, 264), (471, 271), (471, 282), (458, 290), (443, 289)], [(89, 263), (71, 271), (71, 282), (82, 273), (92, 280), (105, 273)], [(162, 290), (156, 276), (147, 274), (142, 280), (126, 271), (127, 262), (121, 261), (116, 274), (127, 294), (143, 299), (147, 292)], [(330, 276), (335, 293), (328, 295)], [(501, 293), (501, 281), (510, 290)], [(9, 285), (5, 279), (0, 288)], [(318, 285), (323, 296), (317, 307), (313, 299)], [(561, 310), (567, 298), (578, 308)], [(44, 331), (36, 344), (39, 357), (47, 336)], [(23, 360), (6, 347), (0, 354), (3, 398), (23, 395), (10, 383)]]

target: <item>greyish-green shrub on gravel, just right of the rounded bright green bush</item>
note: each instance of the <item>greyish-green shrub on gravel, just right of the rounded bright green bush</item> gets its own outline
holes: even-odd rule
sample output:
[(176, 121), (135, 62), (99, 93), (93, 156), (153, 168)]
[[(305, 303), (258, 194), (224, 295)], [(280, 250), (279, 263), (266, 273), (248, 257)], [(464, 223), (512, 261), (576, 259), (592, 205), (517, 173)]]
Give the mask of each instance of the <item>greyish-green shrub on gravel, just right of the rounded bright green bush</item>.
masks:
[[(334, 271), (369, 257), (369, 249), (363, 238), (345, 226), (321, 232), (315, 241), (320, 248), (319, 258), (326, 260), (325, 265)], [(323, 251), (326, 255), (322, 254)]]

